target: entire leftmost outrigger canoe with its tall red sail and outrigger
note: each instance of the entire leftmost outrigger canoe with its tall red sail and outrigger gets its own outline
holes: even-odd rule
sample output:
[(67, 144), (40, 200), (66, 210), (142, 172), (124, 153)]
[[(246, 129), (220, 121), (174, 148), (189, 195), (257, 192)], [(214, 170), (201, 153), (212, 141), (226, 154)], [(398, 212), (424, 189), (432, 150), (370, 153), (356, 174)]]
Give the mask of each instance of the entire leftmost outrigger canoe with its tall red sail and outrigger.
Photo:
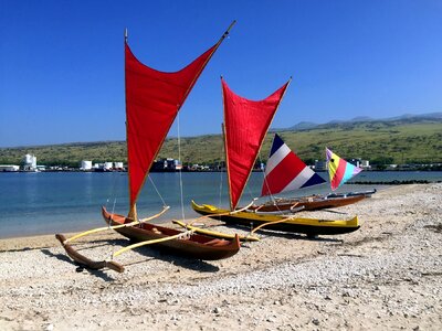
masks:
[[(108, 227), (93, 228), (71, 238), (56, 234), (56, 238), (62, 243), (72, 259), (92, 269), (108, 267), (122, 273), (124, 270), (122, 265), (113, 260), (91, 260), (71, 245), (76, 238), (107, 229), (115, 229), (137, 242), (113, 253), (112, 258), (145, 245), (155, 245), (171, 253), (206, 260), (227, 258), (239, 252), (240, 241), (238, 236), (232, 239), (215, 238), (196, 234), (193, 229), (180, 232), (175, 228), (147, 223), (147, 221), (162, 214), (168, 209), (166, 205), (164, 205), (161, 213), (144, 220), (139, 220), (136, 207), (136, 202), (149, 175), (149, 170), (179, 109), (214, 52), (229, 35), (229, 31), (234, 23), (235, 21), (230, 24), (218, 43), (185, 68), (175, 73), (156, 71), (139, 62), (130, 51), (126, 31), (125, 87), (129, 212), (126, 217), (110, 214), (103, 207), (103, 216), (109, 224)], [(157, 191), (157, 193), (159, 192)]]

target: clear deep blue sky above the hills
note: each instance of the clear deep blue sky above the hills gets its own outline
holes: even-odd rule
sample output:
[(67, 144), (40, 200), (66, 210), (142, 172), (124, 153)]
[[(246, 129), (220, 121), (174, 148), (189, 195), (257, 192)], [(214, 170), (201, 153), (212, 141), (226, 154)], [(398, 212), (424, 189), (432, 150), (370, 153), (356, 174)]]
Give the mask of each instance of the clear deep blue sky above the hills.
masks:
[(171, 72), (233, 20), (181, 136), (221, 131), (220, 75), (251, 99), (293, 76), (278, 128), (442, 110), (440, 0), (0, 0), (0, 147), (124, 140), (124, 29), (141, 62)]

